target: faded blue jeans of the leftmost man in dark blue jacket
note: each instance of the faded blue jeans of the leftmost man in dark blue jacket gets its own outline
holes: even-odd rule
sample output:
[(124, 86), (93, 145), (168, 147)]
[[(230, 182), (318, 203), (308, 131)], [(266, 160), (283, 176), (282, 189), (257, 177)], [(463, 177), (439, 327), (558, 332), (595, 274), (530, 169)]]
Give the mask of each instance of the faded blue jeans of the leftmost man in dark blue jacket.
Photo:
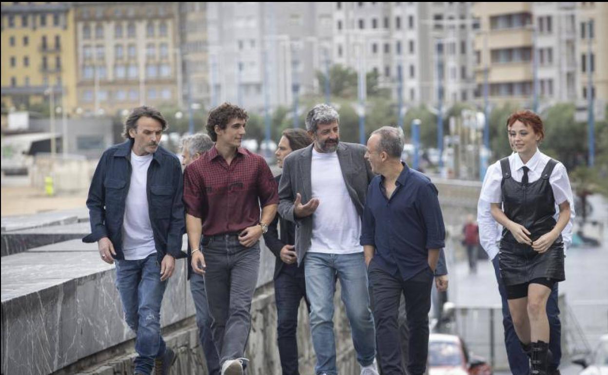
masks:
[(116, 260), (116, 287), (126, 324), (136, 333), (135, 372), (150, 375), (154, 358), (166, 349), (161, 336), (161, 302), (167, 281), (161, 281), (156, 253), (142, 260)]

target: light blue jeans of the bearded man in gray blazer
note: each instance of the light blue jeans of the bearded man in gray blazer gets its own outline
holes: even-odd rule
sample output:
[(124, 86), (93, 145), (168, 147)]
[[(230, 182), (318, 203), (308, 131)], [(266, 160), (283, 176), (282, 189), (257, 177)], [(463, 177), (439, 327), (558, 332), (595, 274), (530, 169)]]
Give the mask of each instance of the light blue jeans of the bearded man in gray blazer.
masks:
[(336, 276), (342, 287), (342, 302), (350, 322), (357, 361), (362, 366), (371, 365), (376, 355), (376, 332), (363, 253), (307, 253), (304, 265), (311, 335), (317, 355), (316, 373), (337, 374), (333, 323)]

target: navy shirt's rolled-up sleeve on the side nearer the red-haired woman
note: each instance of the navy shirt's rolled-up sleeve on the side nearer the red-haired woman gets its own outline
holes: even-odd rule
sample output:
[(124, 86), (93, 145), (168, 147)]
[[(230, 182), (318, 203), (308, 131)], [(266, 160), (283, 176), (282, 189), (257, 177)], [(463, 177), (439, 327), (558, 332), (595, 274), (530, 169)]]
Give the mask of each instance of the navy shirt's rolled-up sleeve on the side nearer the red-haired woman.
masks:
[(418, 207), (426, 225), (426, 248), (443, 249), (445, 247), (446, 228), (439, 205), (438, 191), (435, 185), (428, 183), (418, 190)]

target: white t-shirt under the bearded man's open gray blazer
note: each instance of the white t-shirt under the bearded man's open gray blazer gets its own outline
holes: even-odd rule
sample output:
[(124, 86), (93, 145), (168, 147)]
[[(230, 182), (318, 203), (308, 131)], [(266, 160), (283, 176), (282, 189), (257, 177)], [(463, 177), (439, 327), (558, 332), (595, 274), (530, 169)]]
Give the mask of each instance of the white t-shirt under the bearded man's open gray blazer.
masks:
[(311, 187), (319, 207), (313, 213), (313, 253), (350, 254), (363, 252), (359, 244), (361, 218), (348, 194), (337, 154), (318, 153), (313, 148)]

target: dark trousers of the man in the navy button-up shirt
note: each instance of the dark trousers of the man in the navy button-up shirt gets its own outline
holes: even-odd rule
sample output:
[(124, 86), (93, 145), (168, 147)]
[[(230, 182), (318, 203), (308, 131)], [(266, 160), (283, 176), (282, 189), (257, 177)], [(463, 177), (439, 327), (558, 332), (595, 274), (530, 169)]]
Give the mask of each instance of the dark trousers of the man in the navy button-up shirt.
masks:
[(404, 366), (401, 361), (399, 340), (399, 301), (405, 300), (407, 328), (409, 330), (410, 375), (422, 375), (426, 371), (429, 354), (429, 311), (430, 291), (433, 272), (430, 267), (407, 281), (384, 272), (372, 260), (368, 268), (373, 290), (373, 313), (376, 323), (376, 342), (378, 358), (384, 375), (402, 375)]

